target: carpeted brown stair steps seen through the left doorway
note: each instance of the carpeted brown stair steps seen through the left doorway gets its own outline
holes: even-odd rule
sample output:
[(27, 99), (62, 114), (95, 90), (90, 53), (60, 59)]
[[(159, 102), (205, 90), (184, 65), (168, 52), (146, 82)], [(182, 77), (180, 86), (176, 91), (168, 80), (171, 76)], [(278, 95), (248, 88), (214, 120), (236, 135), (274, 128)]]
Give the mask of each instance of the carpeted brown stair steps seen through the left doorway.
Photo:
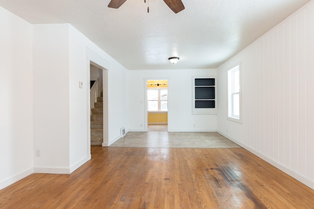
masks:
[(97, 102), (94, 103), (92, 115), (90, 115), (90, 144), (103, 144), (103, 97), (97, 97)]

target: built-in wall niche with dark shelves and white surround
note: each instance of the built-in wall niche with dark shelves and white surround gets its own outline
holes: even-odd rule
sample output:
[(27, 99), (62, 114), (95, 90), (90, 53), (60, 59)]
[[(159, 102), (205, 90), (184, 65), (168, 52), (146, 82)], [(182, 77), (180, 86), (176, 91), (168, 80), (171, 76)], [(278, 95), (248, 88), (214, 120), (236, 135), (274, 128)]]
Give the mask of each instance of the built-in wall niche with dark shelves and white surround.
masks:
[(216, 82), (214, 77), (192, 77), (192, 114), (216, 114)]

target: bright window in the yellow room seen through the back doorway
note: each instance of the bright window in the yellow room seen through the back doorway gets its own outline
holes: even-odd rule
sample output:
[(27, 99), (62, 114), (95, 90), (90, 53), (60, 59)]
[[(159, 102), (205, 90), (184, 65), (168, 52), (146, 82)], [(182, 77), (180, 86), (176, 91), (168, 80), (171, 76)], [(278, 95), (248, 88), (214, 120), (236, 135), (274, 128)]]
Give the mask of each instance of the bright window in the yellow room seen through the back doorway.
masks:
[(149, 89), (147, 90), (148, 111), (168, 111), (168, 90), (167, 89)]

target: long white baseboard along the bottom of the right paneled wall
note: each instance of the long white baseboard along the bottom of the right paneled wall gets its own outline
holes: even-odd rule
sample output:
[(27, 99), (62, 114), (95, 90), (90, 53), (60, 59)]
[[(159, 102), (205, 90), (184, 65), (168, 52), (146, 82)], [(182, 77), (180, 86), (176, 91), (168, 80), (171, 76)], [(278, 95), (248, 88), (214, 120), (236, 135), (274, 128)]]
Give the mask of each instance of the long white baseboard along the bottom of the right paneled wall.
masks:
[(254, 155), (258, 156), (259, 158), (262, 158), (262, 160), (266, 161), (267, 163), (275, 166), (276, 168), (278, 168), (279, 170), (287, 173), (289, 176), (291, 176), (292, 178), (298, 180), (299, 182), (301, 182), (302, 184), (309, 186), (310, 188), (314, 189), (314, 182), (307, 179), (304, 176), (301, 176), (300, 174), (294, 172), (293, 170), (285, 167), (284, 165), (277, 163), (275, 161), (273, 161), (272, 159), (268, 158), (267, 156), (263, 155), (262, 153), (252, 149), (251, 147), (233, 139), (232, 137), (228, 136), (227, 134), (221, 132), (221, 131), (217, 131), (219, 134), (221, 134), (222, 136), (226, 137), (227, 139), (232, 140), (233, 142), (235, 142), (236, 144), (238, 144), (239, 146), (243, 147), (244, 149), (246, 149), (247, 151), (253, 153)]

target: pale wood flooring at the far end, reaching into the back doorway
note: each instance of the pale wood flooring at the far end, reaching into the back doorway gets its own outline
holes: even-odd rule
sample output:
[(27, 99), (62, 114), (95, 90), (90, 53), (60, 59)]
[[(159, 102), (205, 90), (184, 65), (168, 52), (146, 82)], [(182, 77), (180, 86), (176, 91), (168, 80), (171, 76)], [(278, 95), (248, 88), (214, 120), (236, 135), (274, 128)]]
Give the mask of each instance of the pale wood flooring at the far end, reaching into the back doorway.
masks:
[(129, 132), (111, 147), (240, 148), (217, 132), (167, 132), (167, 125), (149, 125), (148, 132)]

